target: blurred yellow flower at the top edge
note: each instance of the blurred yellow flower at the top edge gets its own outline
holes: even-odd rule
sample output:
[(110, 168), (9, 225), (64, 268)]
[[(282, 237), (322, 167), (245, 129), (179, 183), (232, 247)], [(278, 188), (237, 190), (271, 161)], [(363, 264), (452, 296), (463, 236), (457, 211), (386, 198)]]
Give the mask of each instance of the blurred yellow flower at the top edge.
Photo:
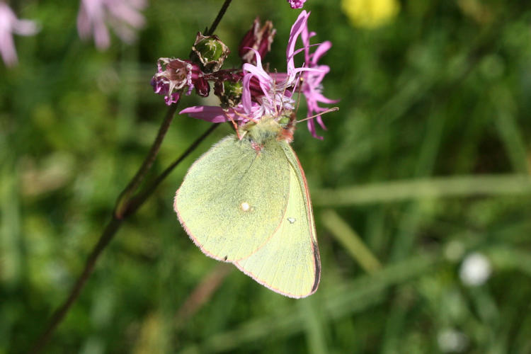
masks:
[(400, 10), (397, 0), (342, 0), (341, 7), (354, 26), (363, 28), (389, 23)]

